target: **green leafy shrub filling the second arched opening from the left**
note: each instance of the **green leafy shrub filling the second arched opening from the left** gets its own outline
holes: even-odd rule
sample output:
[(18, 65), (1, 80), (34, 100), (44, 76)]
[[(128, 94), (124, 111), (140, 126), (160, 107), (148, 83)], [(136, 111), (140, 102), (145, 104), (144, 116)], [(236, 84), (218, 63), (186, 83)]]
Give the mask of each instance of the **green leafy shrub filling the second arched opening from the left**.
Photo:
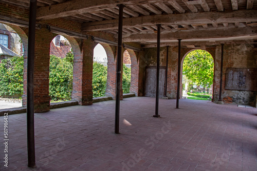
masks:
[(70, 100), (73, 66), (65, 58), (50, 56), (49, 95), (52, 100)]

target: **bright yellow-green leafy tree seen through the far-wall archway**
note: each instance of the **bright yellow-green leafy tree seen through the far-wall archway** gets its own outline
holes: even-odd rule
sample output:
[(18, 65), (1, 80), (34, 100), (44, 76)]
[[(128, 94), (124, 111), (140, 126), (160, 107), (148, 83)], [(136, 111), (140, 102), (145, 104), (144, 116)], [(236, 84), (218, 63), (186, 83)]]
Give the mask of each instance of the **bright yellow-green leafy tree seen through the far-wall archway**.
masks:
[(203, 50), (190, 52), (183, 62), (183, 74), (198, 86), (210, 88), (213, 84), (214, 62), (210, 53)]

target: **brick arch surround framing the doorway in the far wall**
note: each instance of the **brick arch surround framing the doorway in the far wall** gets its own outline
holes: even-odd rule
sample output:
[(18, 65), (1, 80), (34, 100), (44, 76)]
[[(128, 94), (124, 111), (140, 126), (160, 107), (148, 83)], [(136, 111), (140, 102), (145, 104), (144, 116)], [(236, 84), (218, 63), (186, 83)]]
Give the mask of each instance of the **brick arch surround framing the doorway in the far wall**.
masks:
[[(180, 79), (179, 79), (179, 81), (180, 81), (180, 88), (179, 88), (179, 93), (180, 93), (180, 98), (182, 97), (182, 90), (183, 90), (183, 87), (182, 87), (182, 72), (183, 72), (183, 62), (184, 62), (184, 59), (187, 57), (187, 55), (190, 53), (190, 52), (193, 52), (193, 51), (195, 51), (195, 50), (201, 50), (200, 48), (196, 48), (196, 49), (189, 49), (189, 48), (186, 48), (186, 49), (182, 49), (181, 50), (181, 56), (183, 56), (182, 57), (182, 59), (181, 59), (181, 63), (180, 63)], [(214, 48), (206, 48), (206, 50), (204, 50), (204, 51), (207, 51), (208, 53), (210, 53), (211, 54), (211, 56), (212, 56), (212, 59), (213, 59), (213, 63), (214, 63), (214, 67), (213, 67), (213, 70), (214, 70), (214, 68), (215, 68), (215, 47)], [(215, 72), (215, 70), (214, 70), (214, 72)], [(214, 75), (214, 73), (213, 73), (213, 75)], [(213, 80), (214, 80), (214, 77), (213, 77)], [(214, 81), (213, 81), (214, 82)], [(214, 90), (214, 84), (213, 84), (213, 90)]]

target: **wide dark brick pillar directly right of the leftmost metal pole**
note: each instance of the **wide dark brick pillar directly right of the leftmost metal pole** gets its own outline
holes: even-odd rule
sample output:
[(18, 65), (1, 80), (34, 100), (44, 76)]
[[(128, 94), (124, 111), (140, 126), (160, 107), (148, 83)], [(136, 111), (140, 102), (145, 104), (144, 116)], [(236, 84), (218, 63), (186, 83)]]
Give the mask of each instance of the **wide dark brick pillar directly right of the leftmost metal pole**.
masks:
[(50, 43), (54, 35), (47, 29), (35, 31), (34, 112), (50, 110), (49, 61)]

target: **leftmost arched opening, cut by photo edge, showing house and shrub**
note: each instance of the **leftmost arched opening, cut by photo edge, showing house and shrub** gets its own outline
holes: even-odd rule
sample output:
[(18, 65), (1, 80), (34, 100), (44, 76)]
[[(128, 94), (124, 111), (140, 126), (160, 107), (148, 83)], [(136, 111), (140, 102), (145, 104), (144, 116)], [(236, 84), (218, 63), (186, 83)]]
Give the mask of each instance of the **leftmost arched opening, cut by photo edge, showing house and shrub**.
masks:
[(0, 23), (0, 97), (5, 109), (26, 105), (22, 103), (27, 88), (26, 44), (27, 35), (20, 27)]

